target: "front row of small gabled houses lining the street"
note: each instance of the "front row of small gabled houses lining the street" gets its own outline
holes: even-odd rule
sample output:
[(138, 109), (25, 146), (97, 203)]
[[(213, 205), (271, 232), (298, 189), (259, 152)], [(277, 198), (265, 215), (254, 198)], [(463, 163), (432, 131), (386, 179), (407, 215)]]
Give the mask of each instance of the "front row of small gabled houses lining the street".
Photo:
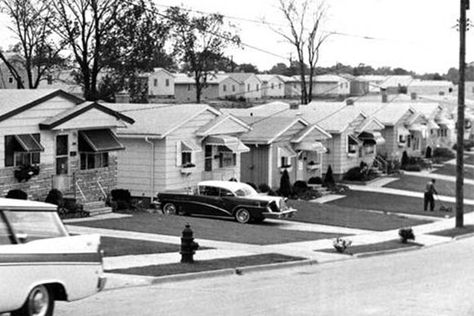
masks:
[[(336, 177), (378, 154), (448, 146), (452, 120), (434, 103), (272, 102), (218, 111), (205, 104), (106, 104), (61, 90), (0, 90), (0, 189), (81, 202), (114, 188), (133, 196), (235, 178), (278, 188)], [(420, 104), (418, 104), (420, 103)], [(443, 131), (439, 133), (439, 131)], [(444, 139), (447, 135), (448, 139)]]

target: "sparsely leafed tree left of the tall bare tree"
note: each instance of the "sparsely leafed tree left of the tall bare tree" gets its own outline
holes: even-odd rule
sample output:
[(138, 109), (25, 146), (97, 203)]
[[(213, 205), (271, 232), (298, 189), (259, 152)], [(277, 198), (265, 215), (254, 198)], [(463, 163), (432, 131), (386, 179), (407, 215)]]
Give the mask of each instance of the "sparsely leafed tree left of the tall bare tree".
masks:
[(215, 72), (224, 49), (240, 44), (240, 38), (227, 30), (220, 14), (191, 16), (189, 11), (170, 7), (166, 16), (172, 24), (174, 53), (187, 66), (196, 85), (196, 102), (201, 102), (208, 76)]

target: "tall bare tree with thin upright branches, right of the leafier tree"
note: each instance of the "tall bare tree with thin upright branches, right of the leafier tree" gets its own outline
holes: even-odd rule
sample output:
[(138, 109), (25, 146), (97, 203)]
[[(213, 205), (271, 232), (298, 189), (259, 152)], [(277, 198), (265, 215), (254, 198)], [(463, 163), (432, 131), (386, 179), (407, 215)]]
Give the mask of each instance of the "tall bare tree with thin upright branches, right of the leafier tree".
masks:
[[(274, 29), (296, 49), (301, 78), (301, 103), (311, 102), (313, 77), (319, 61), (321, 45), (331, 35), (320, 27), (326, 16), (324, 2), (314, 0), (279, 0), (279, 10), (287, 23), (287, 29)], [(309, 73), (306, 73), (308, 66)], [(308, 81), (306, 81), (308, 80)]]

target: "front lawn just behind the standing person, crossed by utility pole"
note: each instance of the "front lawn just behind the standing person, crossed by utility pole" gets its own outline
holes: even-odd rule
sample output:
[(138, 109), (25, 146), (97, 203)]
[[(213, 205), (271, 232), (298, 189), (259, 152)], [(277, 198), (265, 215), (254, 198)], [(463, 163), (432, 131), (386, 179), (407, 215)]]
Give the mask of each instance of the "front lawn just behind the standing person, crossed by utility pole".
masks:
[[(429, 177), (424, 178), (410, 175), (400, 175), (399, 180), (390, 182), (389, 184), (385, 185), (385, 187), (407, 191), (424, 192), (426, 183), (429, 180)], [(455, 182), (437, 179), (435, 188), (439, 195), (452, 197), (456, 195)], [(474, 199), (474, 185), (466, 183), (464, 184), (464, 198)]]

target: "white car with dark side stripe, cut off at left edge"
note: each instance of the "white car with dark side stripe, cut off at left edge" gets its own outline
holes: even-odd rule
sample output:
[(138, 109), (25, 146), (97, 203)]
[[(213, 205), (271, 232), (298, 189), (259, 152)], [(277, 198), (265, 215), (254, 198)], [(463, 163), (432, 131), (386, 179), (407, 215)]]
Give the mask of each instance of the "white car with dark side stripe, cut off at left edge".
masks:
[(0, 314), (53, 315), (103, 289), (100, 236), (69, 236), (56, 209), (0, 198)]

